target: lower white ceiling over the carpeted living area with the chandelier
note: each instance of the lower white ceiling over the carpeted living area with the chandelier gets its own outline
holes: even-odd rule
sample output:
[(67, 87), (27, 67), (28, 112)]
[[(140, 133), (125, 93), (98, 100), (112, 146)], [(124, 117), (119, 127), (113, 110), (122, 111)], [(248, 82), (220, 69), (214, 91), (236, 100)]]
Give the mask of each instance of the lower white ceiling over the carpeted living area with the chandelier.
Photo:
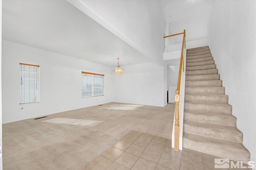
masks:
[(4, 40), (115, 67), (150, 59), (66, 0), (2, 2)]

